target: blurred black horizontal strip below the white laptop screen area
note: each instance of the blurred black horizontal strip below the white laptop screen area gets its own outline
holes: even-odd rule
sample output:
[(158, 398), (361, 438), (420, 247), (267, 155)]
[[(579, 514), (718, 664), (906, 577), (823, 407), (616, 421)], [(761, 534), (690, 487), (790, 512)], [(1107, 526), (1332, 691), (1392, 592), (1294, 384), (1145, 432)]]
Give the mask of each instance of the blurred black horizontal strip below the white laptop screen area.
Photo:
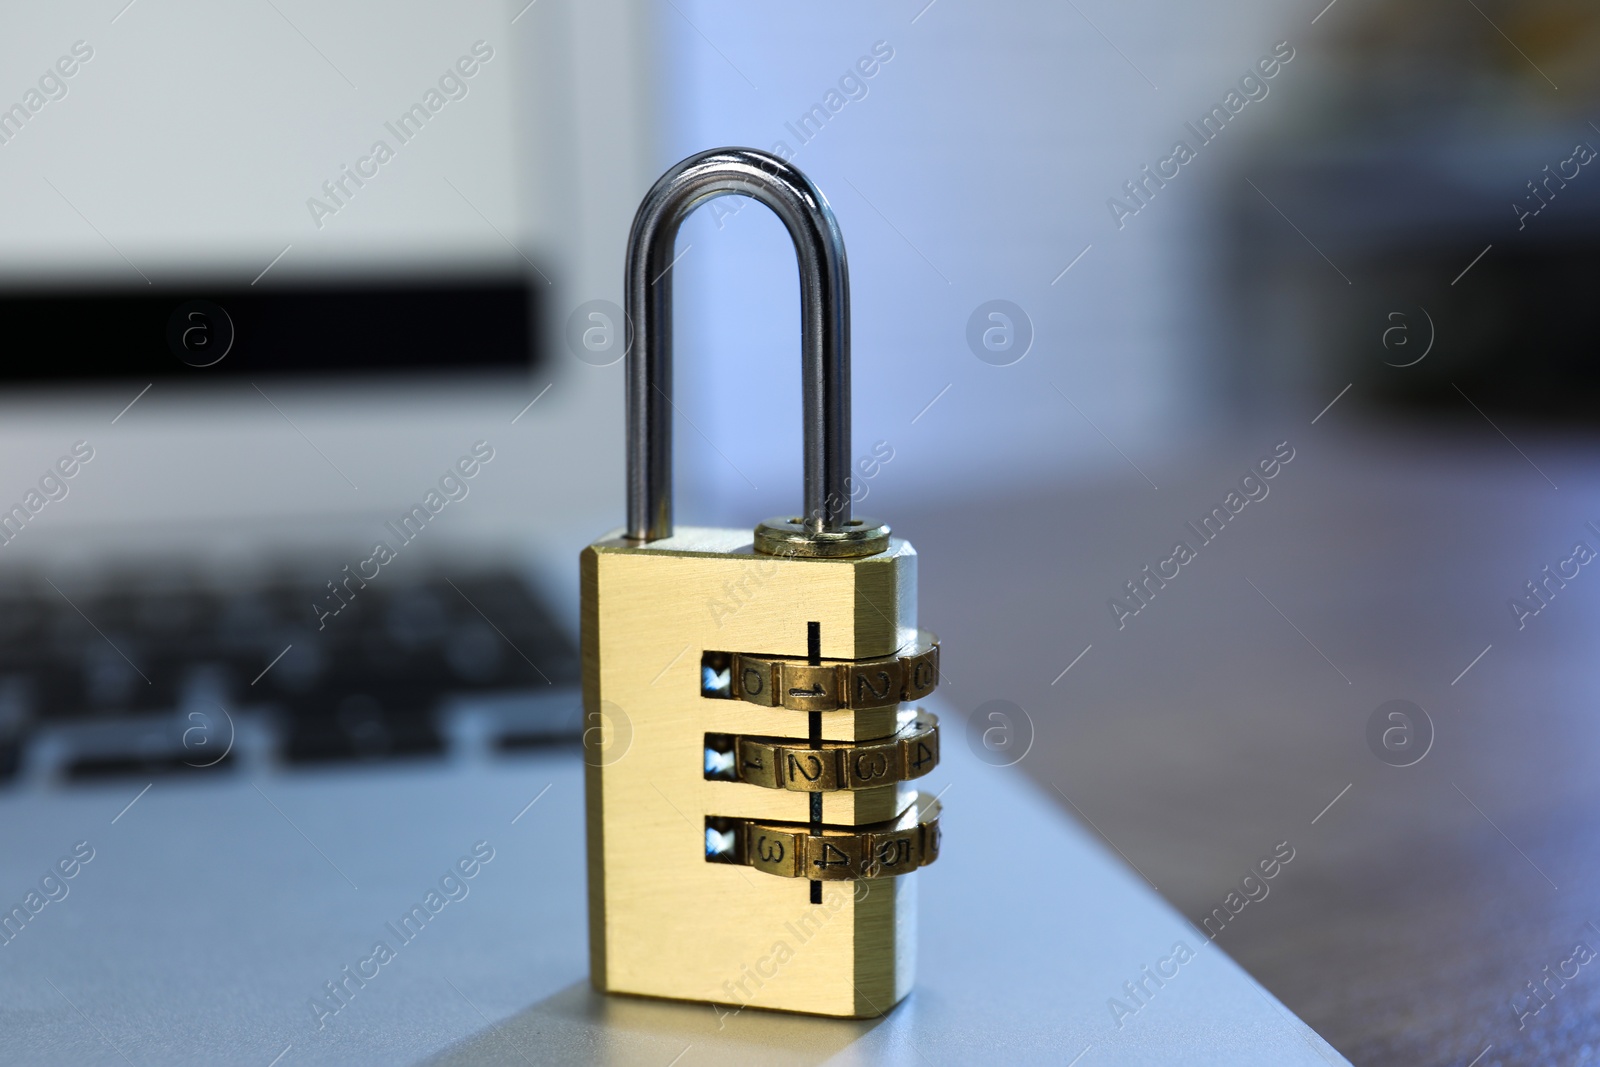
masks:
[[(261, 282), (258, 286), (256, 282)], [(520, 272), (192, 278), (0, 291), (5, 382), (451, 374), (542, 363), (542, 280)]]

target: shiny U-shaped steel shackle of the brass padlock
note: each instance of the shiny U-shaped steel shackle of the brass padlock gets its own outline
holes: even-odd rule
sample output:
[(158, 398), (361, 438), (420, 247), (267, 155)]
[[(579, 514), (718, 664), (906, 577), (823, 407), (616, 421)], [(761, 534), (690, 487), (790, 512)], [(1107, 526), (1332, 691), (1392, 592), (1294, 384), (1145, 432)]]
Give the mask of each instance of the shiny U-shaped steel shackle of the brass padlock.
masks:
[[(832, 541), (850, 518), (850, 269), (827, 200), (795, 166), (755, 149), (691, 155), (661, 176), (627, 240), (627, 536), (672, 533), (672, 250), (688, 214), (739, 194), (773, 210), (800, 267), (800, 376), (805, 406), (802, 539)], [(886, 531), (885, 531), (886, 533)], [(829, 552), (834, 553), (834, 552)], [(840, 555), (851, 552), (838, 552)]]

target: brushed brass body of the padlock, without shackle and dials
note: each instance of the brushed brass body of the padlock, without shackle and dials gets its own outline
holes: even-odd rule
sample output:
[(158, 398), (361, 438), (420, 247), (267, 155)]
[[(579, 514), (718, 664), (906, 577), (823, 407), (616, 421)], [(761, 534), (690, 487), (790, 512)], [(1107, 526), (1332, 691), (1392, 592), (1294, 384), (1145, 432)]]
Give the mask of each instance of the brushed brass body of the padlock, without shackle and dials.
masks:
[[(714, 699), (706, 653), (893, 656), (917, 637), (917, 553), (758, 555), (746, 530), (678, 528), (582, 552), (589, 944), (595, 989), (870, 1017), (912, 985), (917, 875), (821, 883), (706, 861), (706, 819), (806, 822), (811, 793), (706, 777), (706, 734), (808, 737), (810, 715)], [(896, 709), (819, 713), (822, 739), (896, 729)], [(822, 822), (894, 819), (915, 789), (822, 798)]]

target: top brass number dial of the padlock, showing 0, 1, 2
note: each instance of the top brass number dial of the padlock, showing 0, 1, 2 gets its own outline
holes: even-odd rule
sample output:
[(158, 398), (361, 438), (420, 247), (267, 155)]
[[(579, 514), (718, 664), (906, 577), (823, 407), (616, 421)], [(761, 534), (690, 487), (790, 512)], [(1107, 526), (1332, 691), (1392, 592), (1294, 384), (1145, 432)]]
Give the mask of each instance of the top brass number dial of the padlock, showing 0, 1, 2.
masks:
[(920, 701), (939, 685), (939, 638), (917, 632), (906, 653), (811, 665), (786, 656), (733, 654), (734, 697), (795, 712), (840, 712)]

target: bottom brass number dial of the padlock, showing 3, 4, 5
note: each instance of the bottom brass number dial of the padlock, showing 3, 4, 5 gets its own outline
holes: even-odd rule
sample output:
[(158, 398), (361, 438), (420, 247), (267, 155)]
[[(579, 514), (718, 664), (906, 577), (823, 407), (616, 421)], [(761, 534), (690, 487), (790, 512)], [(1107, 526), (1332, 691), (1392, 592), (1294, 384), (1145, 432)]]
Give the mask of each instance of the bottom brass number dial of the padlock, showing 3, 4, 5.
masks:
[(917, 793), (917, 803), (898, 819), (851, 830), (813, 833), (805, 825), (734, 822), (734, 851), (725, 862), (784, 878), (891, 878), (939, 857), (939, 801), (928, 793)]

